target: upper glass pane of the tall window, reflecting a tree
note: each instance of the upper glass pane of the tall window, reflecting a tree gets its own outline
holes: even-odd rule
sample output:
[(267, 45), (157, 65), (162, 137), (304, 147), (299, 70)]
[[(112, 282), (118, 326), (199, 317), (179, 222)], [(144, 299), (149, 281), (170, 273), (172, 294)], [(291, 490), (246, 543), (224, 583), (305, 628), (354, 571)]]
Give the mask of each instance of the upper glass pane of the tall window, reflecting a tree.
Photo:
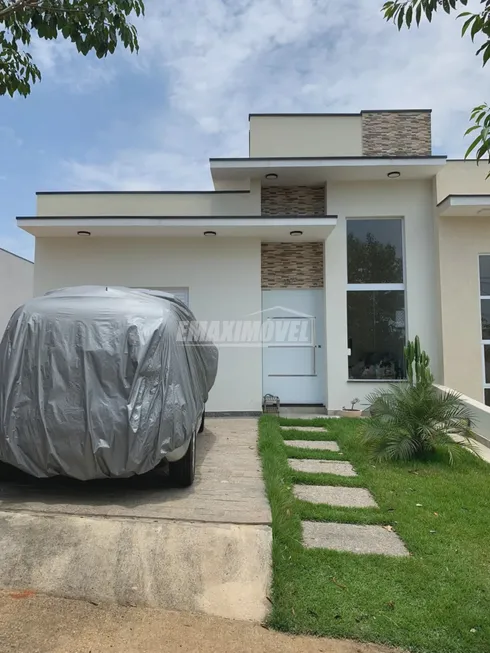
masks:
[(403, 283), (400, 219), (347, 220), (347, 282)]

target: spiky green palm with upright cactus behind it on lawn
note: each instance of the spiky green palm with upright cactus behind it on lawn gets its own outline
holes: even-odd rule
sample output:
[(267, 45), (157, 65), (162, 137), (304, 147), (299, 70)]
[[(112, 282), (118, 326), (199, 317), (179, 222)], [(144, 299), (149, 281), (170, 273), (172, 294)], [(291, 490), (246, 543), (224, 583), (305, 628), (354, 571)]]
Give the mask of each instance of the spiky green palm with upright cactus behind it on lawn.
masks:
[(363, 439), (373, 458), (411, 460), (441, 451), (453, 464), (465, 448), (474, 450), (471, 411), (457, 392), (432, 384), (429, 362), (416, 338), (405, 350), (408, 383), (367, 398)]

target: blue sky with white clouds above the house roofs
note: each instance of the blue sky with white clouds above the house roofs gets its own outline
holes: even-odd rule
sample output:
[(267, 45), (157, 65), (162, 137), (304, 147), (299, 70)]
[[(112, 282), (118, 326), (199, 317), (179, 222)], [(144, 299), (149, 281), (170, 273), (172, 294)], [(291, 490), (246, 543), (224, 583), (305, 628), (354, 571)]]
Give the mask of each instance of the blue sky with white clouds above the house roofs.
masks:
[(490, 68), (455, 17), (398, 32), (382, 4), (147, 0), (138, 55), (35, 41), (42, 82), (0, 97), (0, 247), (33, 258), (15, 217), (37, 191), (212, 189), (209, 157), (247, 156), (254, 112), (433, 109), (434, 153), (462, 157)]

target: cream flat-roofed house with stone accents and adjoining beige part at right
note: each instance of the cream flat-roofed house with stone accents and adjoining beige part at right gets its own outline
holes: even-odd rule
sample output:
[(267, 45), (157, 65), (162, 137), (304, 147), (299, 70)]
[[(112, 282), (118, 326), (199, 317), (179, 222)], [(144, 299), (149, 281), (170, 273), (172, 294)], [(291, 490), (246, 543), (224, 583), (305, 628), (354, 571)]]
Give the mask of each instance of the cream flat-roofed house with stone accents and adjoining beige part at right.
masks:
[(428, 110), (253, 114), (209, 192), (39, 193), (35, 293), (168, 289), (220, 346), (213, 412), (262, 396), (335, 411), (403, 378), (490, 404), (490, 181), (431, 146)]

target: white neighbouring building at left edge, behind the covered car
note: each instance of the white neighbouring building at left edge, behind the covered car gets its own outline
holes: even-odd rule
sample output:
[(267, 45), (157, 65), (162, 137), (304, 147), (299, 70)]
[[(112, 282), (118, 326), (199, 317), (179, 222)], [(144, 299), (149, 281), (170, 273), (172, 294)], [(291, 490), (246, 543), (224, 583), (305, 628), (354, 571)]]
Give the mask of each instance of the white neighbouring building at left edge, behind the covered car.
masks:
[(0, 339), (12, 313), (32, 297), (34, 265), (0, 247)]

